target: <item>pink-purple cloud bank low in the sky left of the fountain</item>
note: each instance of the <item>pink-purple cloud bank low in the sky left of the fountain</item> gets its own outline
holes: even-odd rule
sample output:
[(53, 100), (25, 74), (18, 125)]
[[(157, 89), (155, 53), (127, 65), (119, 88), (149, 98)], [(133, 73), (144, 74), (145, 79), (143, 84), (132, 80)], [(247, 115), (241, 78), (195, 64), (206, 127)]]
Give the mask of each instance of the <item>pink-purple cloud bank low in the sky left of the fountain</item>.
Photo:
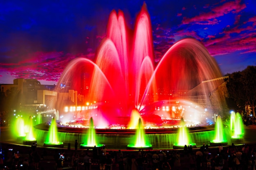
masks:
[(28, 59), (18, 63), (1, 63), (2, 71), (9, 71), (15, 78), (34, 78), (57, 82), (67, 64), (76, 57), (92, 58), (92, 55), (64, 54), (63, 52), (36, 52), (28, 56)]

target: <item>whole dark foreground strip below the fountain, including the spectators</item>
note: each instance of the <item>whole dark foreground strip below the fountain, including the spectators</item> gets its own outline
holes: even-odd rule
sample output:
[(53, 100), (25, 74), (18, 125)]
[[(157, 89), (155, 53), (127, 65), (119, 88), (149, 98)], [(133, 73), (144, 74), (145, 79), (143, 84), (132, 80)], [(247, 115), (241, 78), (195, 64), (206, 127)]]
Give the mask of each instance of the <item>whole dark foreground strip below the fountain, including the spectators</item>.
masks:
[[(170, 148), (170, 150), (162, 151), (121, 150), (119, 152), (119, 150), (107, 149), (106, 154), (104, 150), (97, 150), (96, 152), (79, 148), (75, 150), (74, 146), (71, 148), (37, 146), (32, 151), (31, 146), (5, 141), (4, 133), (1, 133), (4, 160), (3, 164), (0, 161), (0, 166), (2, 168), (7, 166), (11, 170), (57, 170), (57, 162), (63, 157), (63, 170), (86, 170), (84, 157), (88, 154), (90, 170), (104, 169), (104, 166), (106, 170), (155, 170), (156, 168), (158, 170), (255, 170), (255, 132), (256, 126), (246, 127), (246, 134), (243, 139), (245, 144), (223, 146), (221, 151), (217, 146), (208, 149), (198, 146), (192, 151)], [(201, 149), (202, 152), (200, 152)], [(18, 153), (19, 158), (15, 159), (15, 153)]]

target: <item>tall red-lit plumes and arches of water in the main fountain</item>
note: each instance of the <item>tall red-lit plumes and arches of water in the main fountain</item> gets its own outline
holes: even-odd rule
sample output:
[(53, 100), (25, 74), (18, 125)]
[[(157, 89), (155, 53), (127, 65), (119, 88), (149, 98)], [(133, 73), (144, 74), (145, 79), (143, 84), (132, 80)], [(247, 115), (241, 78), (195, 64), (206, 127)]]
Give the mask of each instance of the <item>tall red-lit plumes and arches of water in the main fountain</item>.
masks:
[[(95, 62), (85, 58), (72, 60), (61, 75), (58, 90), (74, 89), (83, 96), (80, 105), (88, 102), (89, 106), (97, 106), (79, 111), (81, 119), (94, 117), (95, 122), (101, 119), (106, 124), (118, 124), (121, 117), (130, 117), (135, 108), (146, 117), (151, 112), (145, 108), (180, 97), (180, 91), (191, 90), (202, 81), (222, 77), (214, 58), (192, 38), (170, 45), (158, 63), (154, 58), (146, 4), (137, 15), (133, 31), (128, 29), (122, 11), (112, 11)], [(63, 83), (66, 87), (60, 89)], [(206, 96), (207, 93), (205, 90)], [(64, 112), (61, 110), (65, 105), (72, 105), (67, 102), (70, 98), (58, 99), (60, 112)]]

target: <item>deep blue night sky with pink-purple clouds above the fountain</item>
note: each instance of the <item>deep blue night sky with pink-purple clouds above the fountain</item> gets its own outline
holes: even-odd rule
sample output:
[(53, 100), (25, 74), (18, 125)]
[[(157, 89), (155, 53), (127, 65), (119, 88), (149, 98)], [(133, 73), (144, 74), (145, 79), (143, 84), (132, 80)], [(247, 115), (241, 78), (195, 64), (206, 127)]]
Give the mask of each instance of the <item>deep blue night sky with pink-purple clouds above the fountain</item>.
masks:
[[(0, 84), (35, 78), (56, 84), (76, 57), (94, 60), (110, 12), (134, 28), (141, 0), (1, 0)], [(146, 0), (155, 60), (178, 40), (195, 38), (222, 74), (256, 65), (256, 0)]]

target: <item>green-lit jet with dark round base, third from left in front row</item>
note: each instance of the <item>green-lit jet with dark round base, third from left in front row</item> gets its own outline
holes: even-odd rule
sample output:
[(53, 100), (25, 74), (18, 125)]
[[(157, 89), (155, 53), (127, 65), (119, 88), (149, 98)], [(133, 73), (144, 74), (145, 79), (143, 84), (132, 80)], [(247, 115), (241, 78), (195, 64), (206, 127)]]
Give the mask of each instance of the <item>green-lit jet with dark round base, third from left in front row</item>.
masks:
[(44, 142), (43, 146), (56, 147), (56, 148), (64, 147), (63, 142), (58, 140), (58, 130), (57, 130), (57, 125), (56, 125), (56, 120), (54, 117), (52, 118), (52, 122), (49, 127), (49, 132), (48, 132), (47, 138), (45, 140), (46, 141)]

